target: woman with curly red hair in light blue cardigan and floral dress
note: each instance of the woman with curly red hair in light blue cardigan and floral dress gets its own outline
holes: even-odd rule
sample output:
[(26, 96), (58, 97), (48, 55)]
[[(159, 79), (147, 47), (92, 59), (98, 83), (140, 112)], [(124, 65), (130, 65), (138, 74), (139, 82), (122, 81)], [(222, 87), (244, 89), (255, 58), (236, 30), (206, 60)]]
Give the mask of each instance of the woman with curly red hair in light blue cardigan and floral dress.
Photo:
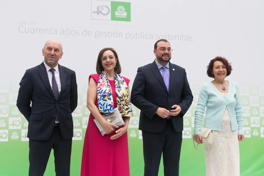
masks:
[(204, 128), (212, 129), (213, 144), (206, 144), (206, 176), (239, 176), (239, 145), (243, 141), (243, 112), (238, 86), (225, 78), (232, 71), (225, 58), (216, 57), (207, 66), (207, 75), (214, 78), (201, 87), (194, 120), (197, 144), (202, 144), (200, 127), (206, 115)]

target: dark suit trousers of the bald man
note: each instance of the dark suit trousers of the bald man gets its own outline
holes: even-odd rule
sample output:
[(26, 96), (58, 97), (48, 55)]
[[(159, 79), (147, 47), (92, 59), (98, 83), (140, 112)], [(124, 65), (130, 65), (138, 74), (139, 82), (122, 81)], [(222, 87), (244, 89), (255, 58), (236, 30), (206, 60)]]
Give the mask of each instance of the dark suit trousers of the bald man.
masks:
[(51, 149), (54, 151), (56, 176), (70, 175), (72, 138), (63, 139), (60, 127), (54, 126), (50, 139), (46, 141), (29, 140), (29, 176), (43, 176)]

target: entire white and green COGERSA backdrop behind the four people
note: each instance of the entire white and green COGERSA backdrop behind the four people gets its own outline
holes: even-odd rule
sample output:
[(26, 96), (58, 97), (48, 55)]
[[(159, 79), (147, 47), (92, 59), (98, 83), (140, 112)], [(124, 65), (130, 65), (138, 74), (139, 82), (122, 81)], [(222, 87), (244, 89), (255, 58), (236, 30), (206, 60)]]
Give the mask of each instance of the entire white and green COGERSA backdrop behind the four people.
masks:
[[(1, 2), (0, 175), (28, 175), (28, 122), (16, 107), (16, 100), (26, 69), (43, 62), (42, 48), (47, 40), (62, 43), (64, 54), (59, 64), (76, 72), (78, 106), (72, 113), (71, 175), (77, 176), (90, 114), (86, 107), (88, 77), (96, 73), (98, 53), (104, 47), (117, 51), (121, 75), (130, 79), (131, 90), (138, 67), (155, 59), (154, 43), (167, 39), (173, 49), (171, 62), (185, 68), (194, 95), (183, 117), (180, 175), (205, 175), (204, 153), (197, 152), (192, 141), (194, 112), (202, 84), (212, 80), (206, 75), (206, 66), (220, 55), (232, 63), (233, 71), (226, 80), (238, 84), (243, 106), (245, 138), (239, 142), (240, 175), (264, 176), (261, 7), (261, 0)], [(139, 176), (144, 173), (144, 160), (142, 132), (138, 129), (140, 110), (134, 105), (133, 114), (128, 128), (130, 173)], [(203, 147), (199, 145), (198, 150)], [(55, 175), (53, 150), (44, 175)]]

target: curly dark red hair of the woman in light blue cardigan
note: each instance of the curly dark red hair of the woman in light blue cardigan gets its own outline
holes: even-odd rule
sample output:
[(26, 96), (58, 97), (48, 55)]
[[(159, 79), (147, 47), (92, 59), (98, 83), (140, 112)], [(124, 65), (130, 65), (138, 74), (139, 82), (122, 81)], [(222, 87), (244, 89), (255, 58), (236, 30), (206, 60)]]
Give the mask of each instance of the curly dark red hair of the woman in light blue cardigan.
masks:
[(214, 78), (214, 74), (213, 74), (213, 66), (214, 66), (214, 62), (215, 61), (221, 61), (227, 68), (227, 76), (229, 76), (231, 74), (232, 66), (231, 63), (228, 63), (228, 60), (225, 59), (224, 57), (221, 56), (216, 56), (214, 59), (212, 59), (210, 61), (210, 63), (208, 64), (207, 68), (207, 75), (211, 78)]

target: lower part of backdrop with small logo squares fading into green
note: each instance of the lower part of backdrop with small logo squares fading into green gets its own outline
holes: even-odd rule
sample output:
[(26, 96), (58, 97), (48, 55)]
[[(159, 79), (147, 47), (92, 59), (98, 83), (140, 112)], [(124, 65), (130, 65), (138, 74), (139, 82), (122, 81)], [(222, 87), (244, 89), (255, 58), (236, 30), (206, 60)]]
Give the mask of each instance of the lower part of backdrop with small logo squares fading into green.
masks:
[[(19, 81), (13, 83), (1, 82), (0, 85), (1, 176), (28, 175), (29, 139), (26, 137), (28, 122), (16, 107), (19, 88), (18, 83)], [(130, 87), (131, 86), (132, 85), (130, 85)], [(242, 85), (239, 87), (243, 106), (245, 136), (244, 141), (239, 142), (241, 176), (263, 176), (264, 87), (243, 87)], [(194, 112), (200, 86), (193, 85), (191, 88), (194, 94), (194, 101), (183, 121), (184, 130), (182, 132), (183, 142), (181, 149), (180, 175), (205, 176), (204, 153), (197, 152), (192, 141)], [(78, 92), (78, 106), (73, 112), (74, 137), (71, 160), (71, 175), (73, 176), (80, 175), (83, 140), (90, 114), (86, 107), (87, 84), (79, 86)], [(140, 111), (133, 106), (134, 117), (130, 118), (128, 129), (131, 176), (142, 176), (144, 170), (142, 135), (141, 131), (138, 130), (139, 112)], [(199, 145), (198, 149), (202, 150), (203, 145)], [(55, 175), (53, 152), (51, 152), (45, 175)], [(163, 175), (162, 159), (159, 175)]]

